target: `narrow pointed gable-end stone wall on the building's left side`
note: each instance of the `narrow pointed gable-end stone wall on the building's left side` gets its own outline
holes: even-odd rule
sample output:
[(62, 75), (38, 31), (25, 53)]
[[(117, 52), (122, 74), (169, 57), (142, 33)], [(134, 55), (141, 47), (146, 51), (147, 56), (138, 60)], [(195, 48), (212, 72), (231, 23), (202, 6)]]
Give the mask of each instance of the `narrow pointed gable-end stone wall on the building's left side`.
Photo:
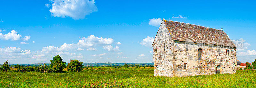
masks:
[[(170, 33), (162, 22), (155, 41), (153, 43), (153, 49), (157, 48), (157, 52), (153, 50), (154, 59), (154, 76), (172, 76), (173, 75), (173, 63), (172, 63), (172, 49), (173, 44)], [(164, 50), (165, 43), (165, 50)], [(157, 65), (157, 68), (156, 68)]]

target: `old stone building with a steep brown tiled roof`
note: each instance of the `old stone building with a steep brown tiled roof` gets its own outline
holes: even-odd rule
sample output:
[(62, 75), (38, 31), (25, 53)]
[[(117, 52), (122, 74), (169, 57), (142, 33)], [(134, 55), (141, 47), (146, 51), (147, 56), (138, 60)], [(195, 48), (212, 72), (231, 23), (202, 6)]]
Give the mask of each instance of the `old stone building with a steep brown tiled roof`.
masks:
[(236, 46), (222, 29), (163, 19), (152, 46), (154, 76), (236, 73)]

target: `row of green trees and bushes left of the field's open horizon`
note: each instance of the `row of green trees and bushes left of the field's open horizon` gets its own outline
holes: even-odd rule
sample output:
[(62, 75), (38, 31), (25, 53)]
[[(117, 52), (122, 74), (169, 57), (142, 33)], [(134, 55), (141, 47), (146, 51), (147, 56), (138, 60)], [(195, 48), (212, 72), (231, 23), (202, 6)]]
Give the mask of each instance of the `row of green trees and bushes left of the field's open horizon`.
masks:
[[(13, 65), (11, 67), (18, 68), (15, 72), (63, 72), (64, 68), (67, 68), (68, 72), (81, 72), (83, 62), (71, 59), (70, 62), (67, 64), (62, 60), (63, 59), (60, 57), (60, 55), (57, 55), (53, 57), (49, 66), (43, 63), (42, 65), (34, 68), (32, 68), (31, 66), (23, 67), (20, 65)], [(0, 66), (0, 72), (12, 72), (12, 70), (10, 69), (11, 67), (7, 60), (6, 62), (4, 62), (3, 65)]]

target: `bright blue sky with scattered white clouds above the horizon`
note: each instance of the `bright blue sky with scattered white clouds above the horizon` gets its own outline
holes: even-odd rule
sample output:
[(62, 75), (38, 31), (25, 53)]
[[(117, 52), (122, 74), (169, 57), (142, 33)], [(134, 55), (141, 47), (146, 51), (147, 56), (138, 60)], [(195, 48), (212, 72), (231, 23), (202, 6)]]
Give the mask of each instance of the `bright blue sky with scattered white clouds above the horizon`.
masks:
[(1, 1), (0, 62), (48, 63), (57, 54), (66, 62), (153, 62), (163, 18), (223, 28), (245, 41), (237, 59), (256, 59), (255, 1), (73, 1)]

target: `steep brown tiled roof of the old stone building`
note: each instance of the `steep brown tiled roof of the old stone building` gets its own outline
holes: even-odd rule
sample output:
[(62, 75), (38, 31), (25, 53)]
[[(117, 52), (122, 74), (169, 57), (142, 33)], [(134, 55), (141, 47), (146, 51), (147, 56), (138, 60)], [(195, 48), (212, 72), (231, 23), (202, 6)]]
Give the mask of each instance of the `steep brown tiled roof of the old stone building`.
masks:
[(236, 47), (223, 30), (164, 20), (173, 40)]

